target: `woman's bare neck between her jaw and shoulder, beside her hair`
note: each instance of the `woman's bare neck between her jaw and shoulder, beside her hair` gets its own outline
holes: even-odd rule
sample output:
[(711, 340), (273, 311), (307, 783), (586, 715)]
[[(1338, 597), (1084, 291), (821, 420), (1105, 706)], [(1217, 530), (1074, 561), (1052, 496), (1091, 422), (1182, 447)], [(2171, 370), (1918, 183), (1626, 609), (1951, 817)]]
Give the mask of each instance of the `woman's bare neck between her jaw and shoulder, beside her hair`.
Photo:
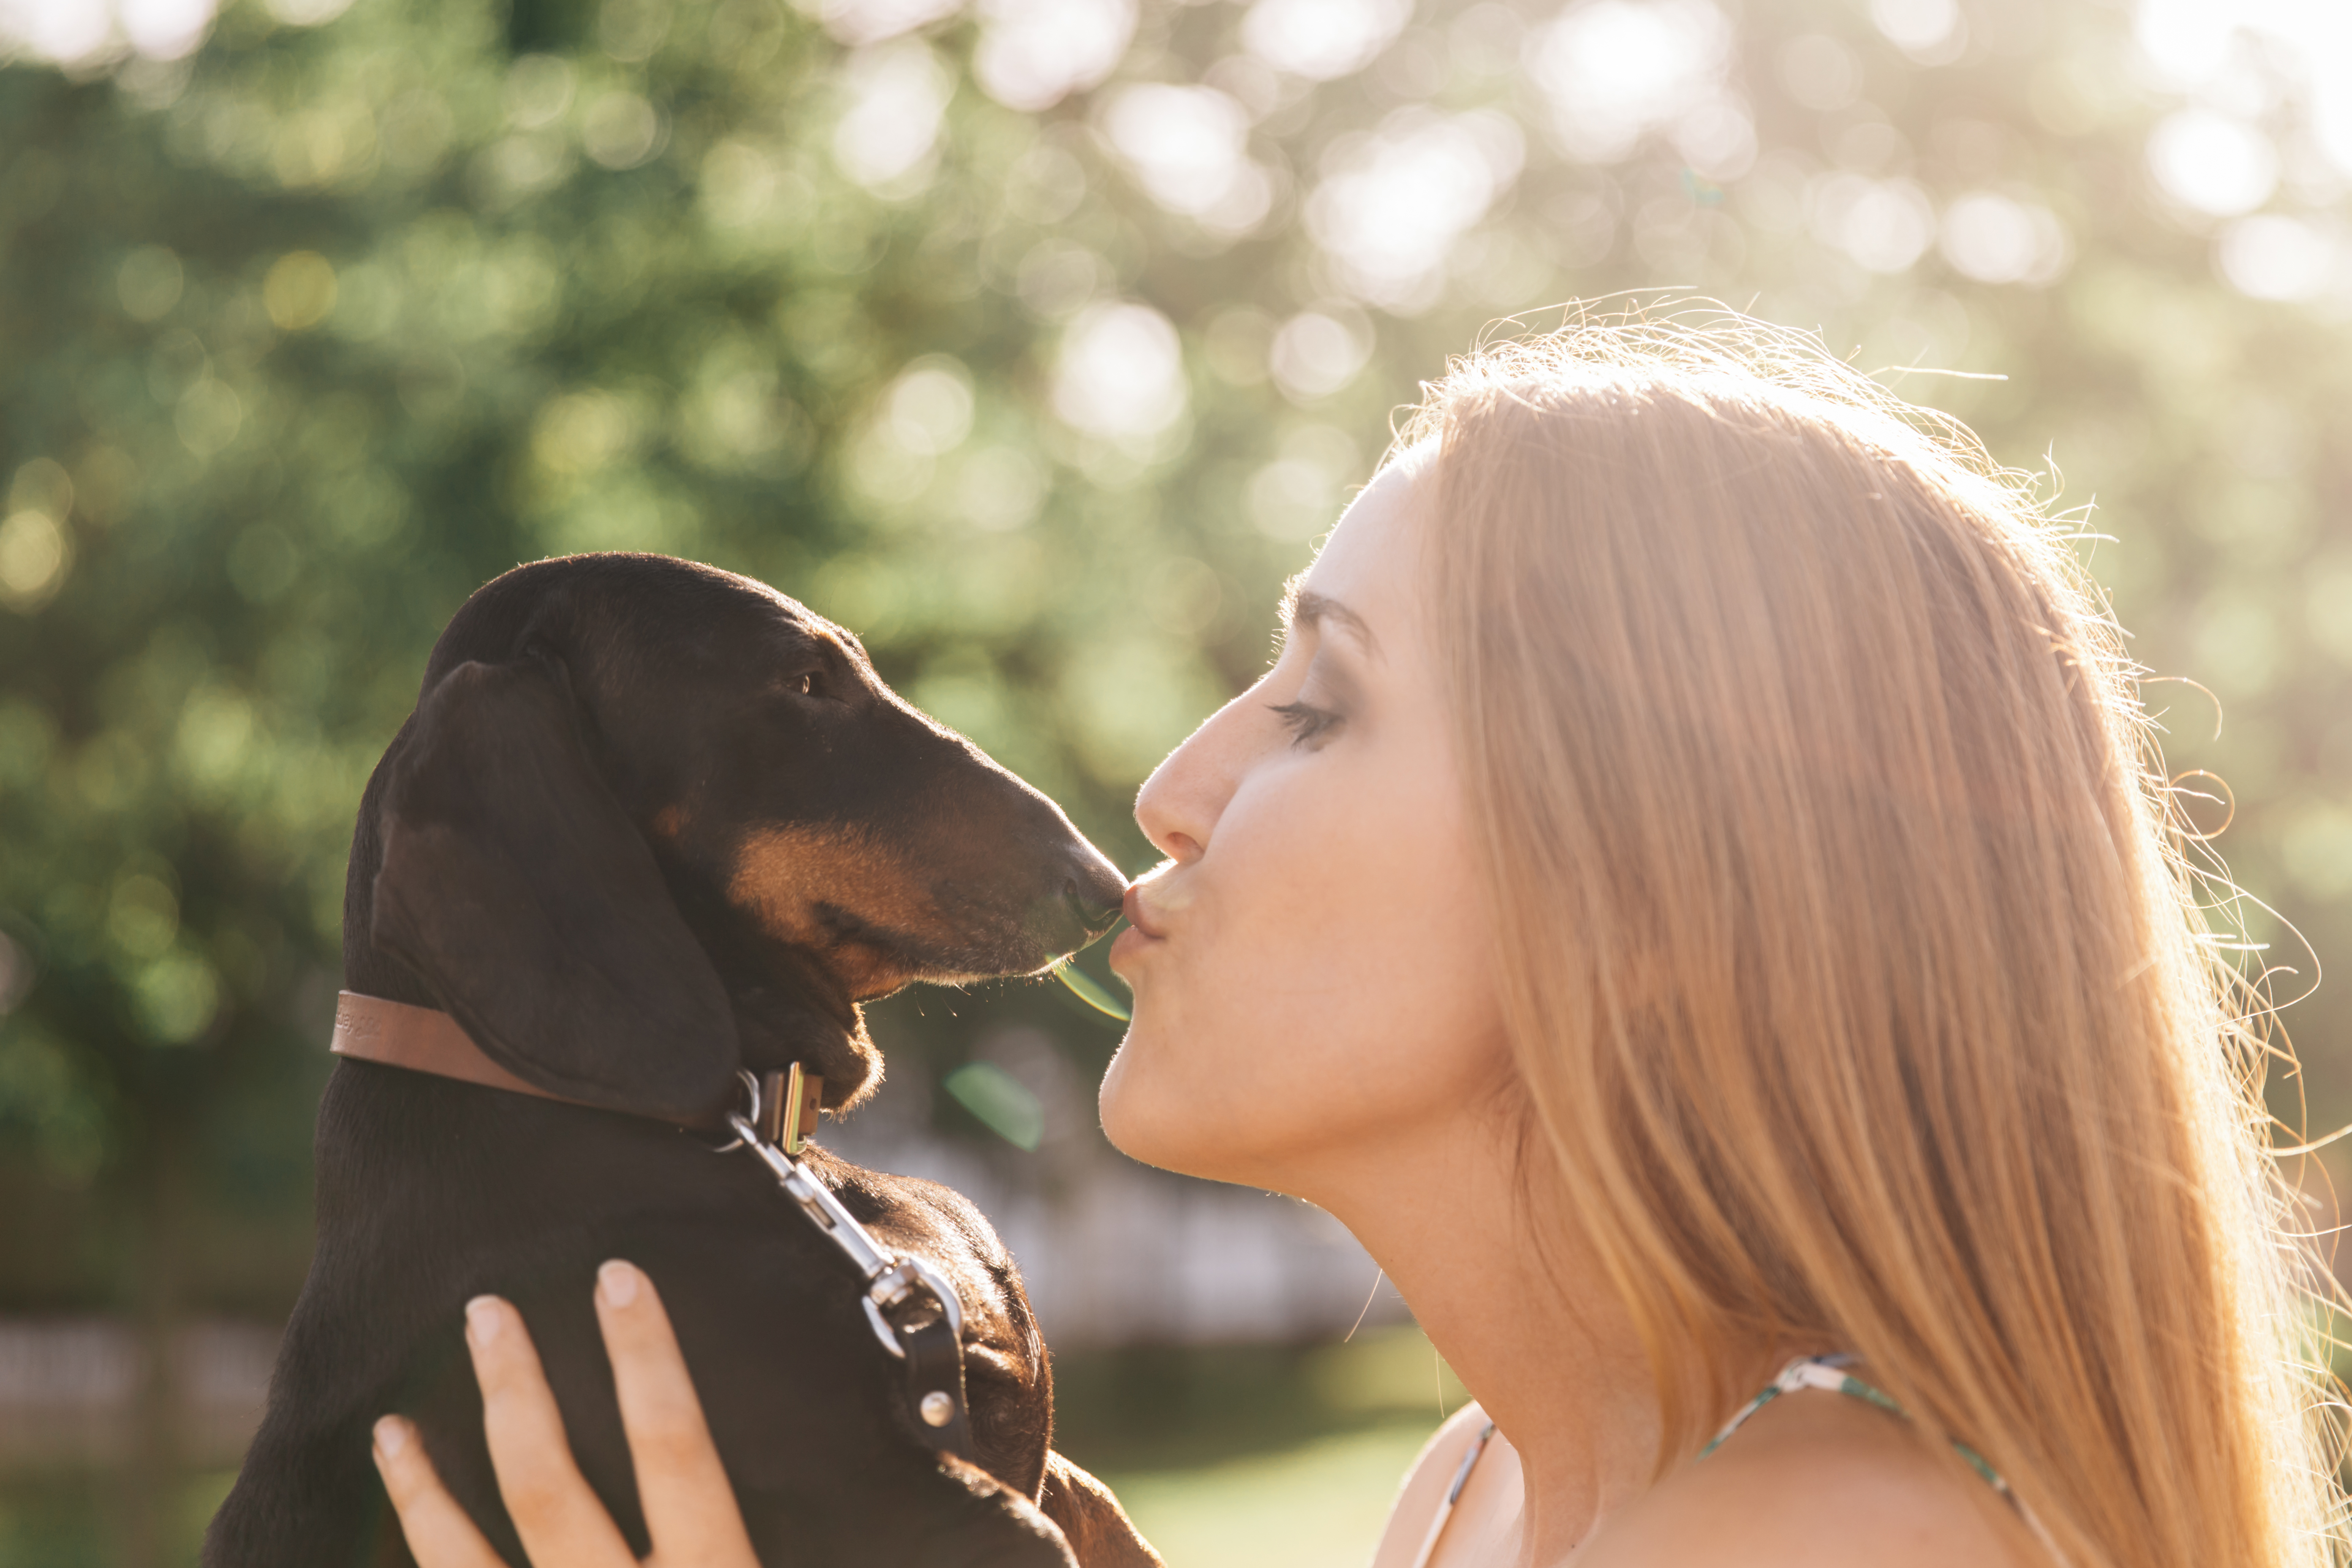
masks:
[(1517, 1152), (1515, 1128), (1465, 1110), (1416, 1135), (1411, 1161), (1369, 1150), (1287, 1190), (1355, 1232), (1517, 1450), (1517, 1559), (1541, 1568), (1649, 1488), (1661, 1418), (1599, 1269), (1571, 1246), (1536, 1248)]

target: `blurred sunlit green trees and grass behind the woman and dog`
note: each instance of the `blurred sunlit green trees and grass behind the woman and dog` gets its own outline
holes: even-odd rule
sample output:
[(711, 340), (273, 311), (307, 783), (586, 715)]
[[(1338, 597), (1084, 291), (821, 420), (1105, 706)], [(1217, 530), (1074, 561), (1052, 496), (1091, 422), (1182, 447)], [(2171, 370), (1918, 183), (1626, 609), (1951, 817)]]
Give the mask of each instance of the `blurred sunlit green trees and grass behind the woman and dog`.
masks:
[[(1818, 329), (2089, 508), (2307, 990), (2347, 183), (2340, 0), (0, 0), (0, 1566), (193, 1561), (306, 1267), (353, 809), (477, 583), (776, 583), (1141, 870), (1392, 409), (1571, 296)], [(2288, 1025), (2352, 1117), (2340, 985)], [(1371, 1262), (1110, 1152), (1058, 990), (875, 1034), (828, 1138), (983, 1199), (1063, 1446), (1178, 1568), (1359, 1563), (1463, 1399)]]

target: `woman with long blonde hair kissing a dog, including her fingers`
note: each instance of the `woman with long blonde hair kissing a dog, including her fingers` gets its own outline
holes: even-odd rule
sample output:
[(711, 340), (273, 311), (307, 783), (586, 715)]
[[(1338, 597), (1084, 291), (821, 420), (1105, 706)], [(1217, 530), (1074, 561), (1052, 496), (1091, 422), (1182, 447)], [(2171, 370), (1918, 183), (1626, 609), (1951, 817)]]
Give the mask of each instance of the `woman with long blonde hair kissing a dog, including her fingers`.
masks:
[[(1790, 334), (1581, 327), (1454, 364), (1284, 611), (1136, 804), (1103, 1128), (1329, 1208), (1477, 1396), (1381, 1568), (2336, 1559), (2263, 1048), (2020, 480)], [(748, 1563), (600, 1309), (656, 1561)], [(628, 1561), (475, 1324), (534, 1561)]]

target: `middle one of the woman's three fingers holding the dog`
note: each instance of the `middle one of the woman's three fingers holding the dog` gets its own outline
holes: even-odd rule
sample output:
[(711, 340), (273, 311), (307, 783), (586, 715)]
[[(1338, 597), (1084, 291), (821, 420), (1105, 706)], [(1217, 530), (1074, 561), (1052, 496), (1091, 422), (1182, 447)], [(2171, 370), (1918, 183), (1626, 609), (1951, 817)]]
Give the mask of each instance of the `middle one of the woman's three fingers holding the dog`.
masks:
[(522, 1314), (496, 1295), (466, 1302), (466, 1347), (482, 1385), (482, 1434), (499, 1472), (499, 1497), (534, 1563), (564, 1568), (637, 1568), (612, 1514), (572, 1462), (564, 1418), (555, 1408)]

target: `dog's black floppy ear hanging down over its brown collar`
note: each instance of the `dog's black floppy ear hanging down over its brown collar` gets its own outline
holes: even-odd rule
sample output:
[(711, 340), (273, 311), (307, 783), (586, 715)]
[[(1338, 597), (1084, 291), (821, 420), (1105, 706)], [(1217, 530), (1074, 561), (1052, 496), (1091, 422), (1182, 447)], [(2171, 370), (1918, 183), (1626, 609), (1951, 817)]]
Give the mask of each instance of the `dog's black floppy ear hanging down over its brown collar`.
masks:
[(734, 1086), (727, 992), (581, 743), (560, 665), (463, 663), (383, 792), (376, 945), (506, 1070), (696, 1121)]

